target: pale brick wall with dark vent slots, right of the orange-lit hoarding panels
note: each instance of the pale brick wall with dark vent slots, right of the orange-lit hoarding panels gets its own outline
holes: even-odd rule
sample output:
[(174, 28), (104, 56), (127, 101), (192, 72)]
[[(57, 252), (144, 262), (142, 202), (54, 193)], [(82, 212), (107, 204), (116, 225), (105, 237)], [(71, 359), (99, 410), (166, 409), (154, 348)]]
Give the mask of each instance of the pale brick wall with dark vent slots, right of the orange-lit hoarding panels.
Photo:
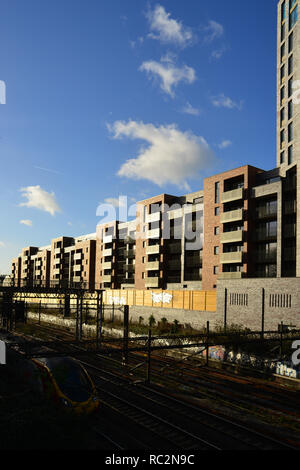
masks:
[(277, 330), (281, 321), (300, 328), (300, 278), (219, 281), (217, 312), (224, 318), (227, 289), (227, 324), (261, 330), (263, 289), (264, 329)]

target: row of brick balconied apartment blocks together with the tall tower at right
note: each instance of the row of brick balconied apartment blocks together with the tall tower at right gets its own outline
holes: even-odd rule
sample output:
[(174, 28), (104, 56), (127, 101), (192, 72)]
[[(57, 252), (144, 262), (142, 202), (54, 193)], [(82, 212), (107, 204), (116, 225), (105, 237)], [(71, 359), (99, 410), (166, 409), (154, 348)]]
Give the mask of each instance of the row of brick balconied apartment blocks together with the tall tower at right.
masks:
[[(276, 168), (235, 168), (206, 178), (195, 193), (139, 201), (135, 220), (52, 240), (50, 280), (211, 290), (218, 281), (300, 277), (298, 3), (278, 2)], [(37, 270), (45, 262), (40, 251), (25, 248), (12, 277), (46, 278), (47, 270)]]

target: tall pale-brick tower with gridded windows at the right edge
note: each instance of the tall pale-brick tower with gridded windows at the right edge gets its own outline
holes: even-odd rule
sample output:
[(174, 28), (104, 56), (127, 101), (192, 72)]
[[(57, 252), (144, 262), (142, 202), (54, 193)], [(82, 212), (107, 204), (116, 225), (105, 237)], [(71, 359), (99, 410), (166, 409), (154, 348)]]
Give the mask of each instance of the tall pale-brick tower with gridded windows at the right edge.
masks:
[(280, 0), (277, 14), (277, 167), (290, 181), (283, 188), (281, 274), (300, 277), (299, 2)]

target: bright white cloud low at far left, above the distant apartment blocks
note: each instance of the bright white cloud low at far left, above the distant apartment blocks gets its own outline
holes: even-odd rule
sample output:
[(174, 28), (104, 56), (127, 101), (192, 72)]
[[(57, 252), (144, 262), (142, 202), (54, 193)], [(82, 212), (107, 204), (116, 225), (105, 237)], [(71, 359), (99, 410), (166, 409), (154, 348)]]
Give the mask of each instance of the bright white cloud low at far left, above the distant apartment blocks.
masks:
[(54, 193), (48, 193), (40, 186), (27, 186), (21, 188), (20, 191), (23, 193), (22, 197), (27, 198), (27, 202), (21, 202), (20, 206), (35, 207), (49, 212), (51, 215), (55, 215), (55, 212), (61, 212)]

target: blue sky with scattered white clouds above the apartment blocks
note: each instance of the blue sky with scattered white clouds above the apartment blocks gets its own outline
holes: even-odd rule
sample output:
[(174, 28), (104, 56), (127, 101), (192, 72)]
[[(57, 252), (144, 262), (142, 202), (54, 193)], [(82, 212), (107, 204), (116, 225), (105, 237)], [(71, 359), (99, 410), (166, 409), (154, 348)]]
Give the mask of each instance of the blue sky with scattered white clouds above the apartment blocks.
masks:
[(3, 0), (0, 272), (94, 232), (106, 199), (274, 168), (276, 5)]

